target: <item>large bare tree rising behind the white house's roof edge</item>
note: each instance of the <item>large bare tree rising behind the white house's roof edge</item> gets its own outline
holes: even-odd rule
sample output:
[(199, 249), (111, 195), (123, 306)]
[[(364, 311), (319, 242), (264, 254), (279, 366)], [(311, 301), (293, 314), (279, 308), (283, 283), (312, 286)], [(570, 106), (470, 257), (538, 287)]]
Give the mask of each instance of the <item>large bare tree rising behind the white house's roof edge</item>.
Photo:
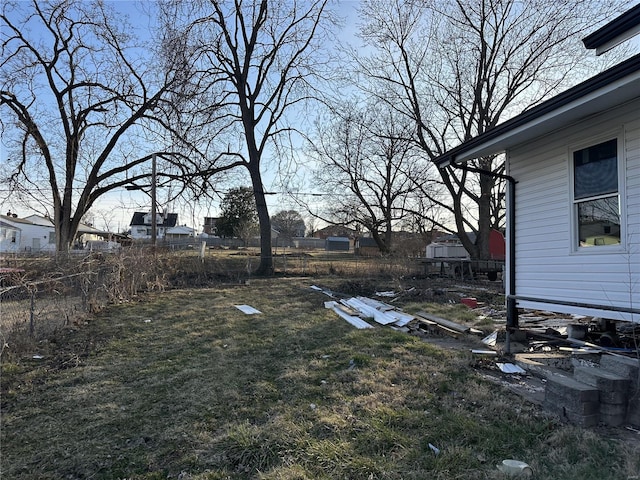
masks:
[[(413, 122), (433, 159), (583, 78), (578, 40), (615, 3), (363, 0), (361, 35), (374, 53), (359, 57), (361, 85)], [(484, 158), (472, 169), (440, 173), (460, 239), (485, 258), (490, 228), (504, 220), (504, 163)]]

